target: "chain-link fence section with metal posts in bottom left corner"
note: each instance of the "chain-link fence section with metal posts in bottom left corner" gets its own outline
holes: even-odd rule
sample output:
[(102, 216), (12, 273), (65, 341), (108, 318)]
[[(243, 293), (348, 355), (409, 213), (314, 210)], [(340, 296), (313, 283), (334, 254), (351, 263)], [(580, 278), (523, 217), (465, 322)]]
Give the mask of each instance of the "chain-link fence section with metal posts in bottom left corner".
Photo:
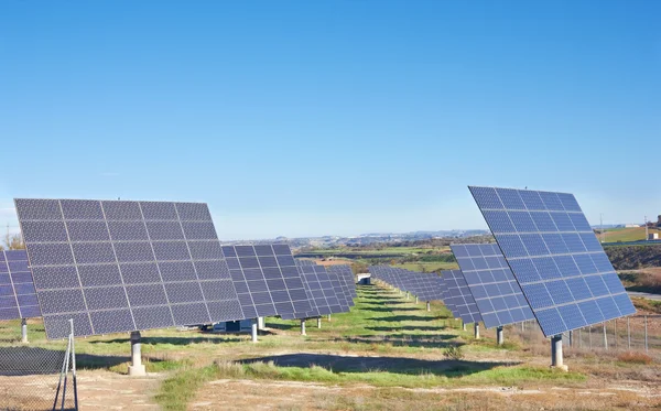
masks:
[(0, 339), (0, 410), (75, 410), (72, 342), (37, 347)]

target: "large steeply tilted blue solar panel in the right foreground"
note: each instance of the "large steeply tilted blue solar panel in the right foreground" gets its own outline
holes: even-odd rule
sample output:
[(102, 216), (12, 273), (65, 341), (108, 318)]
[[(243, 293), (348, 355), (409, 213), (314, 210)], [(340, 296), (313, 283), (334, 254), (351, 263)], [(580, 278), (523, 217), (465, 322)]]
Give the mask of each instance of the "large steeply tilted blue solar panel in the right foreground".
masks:
[(469, 188), (544, 335), (636, 312), (574, 195)]

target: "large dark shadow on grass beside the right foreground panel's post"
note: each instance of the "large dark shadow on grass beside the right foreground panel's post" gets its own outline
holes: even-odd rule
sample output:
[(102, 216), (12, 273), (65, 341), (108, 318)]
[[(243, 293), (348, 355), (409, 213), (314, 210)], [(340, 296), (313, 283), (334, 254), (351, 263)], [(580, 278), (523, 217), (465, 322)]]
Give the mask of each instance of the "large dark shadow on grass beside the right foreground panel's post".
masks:
[(242, 360), (242, 364), (273, 361), (279, 367), (323, 367), (333, 372), (393, 372), (404, 375), (463, 377), (513, 363), (477, 363), (465, 360), (424, 360), (401, 357), (344, 357), (338, 355), (288, 354)]

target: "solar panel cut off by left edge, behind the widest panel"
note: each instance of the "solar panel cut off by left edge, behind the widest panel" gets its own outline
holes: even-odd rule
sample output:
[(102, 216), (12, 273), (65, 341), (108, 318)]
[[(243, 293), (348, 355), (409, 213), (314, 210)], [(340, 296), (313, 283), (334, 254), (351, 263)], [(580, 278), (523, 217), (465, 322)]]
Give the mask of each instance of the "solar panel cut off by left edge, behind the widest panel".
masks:
[(40, 317), (25, 250), (0, 251), (0, 320)]

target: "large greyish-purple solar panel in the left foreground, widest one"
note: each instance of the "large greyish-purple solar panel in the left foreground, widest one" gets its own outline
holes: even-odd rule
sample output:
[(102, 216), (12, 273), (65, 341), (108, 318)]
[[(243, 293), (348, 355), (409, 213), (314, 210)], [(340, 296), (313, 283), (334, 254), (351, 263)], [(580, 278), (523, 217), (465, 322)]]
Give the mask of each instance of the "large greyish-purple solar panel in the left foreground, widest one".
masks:
[(245, 318), (206, 204), (15, 205), (48, 338)]

